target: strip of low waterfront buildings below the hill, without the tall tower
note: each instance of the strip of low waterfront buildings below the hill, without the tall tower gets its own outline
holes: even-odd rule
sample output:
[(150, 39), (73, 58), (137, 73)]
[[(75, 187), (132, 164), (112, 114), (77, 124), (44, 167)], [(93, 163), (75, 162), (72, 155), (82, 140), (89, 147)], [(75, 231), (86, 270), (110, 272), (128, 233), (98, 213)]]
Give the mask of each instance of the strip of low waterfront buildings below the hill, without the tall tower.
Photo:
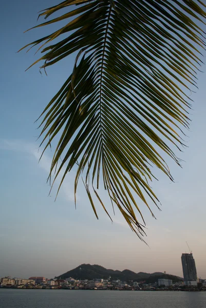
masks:
[(11, 279), (0, 278), (0, 288), (27, 288), (27, 289), (63, 289), (63, 290), (121, 290), (121, 291), (206, 291), (206, 280), (199, 281), (199, 285), (187, 287), (181, 280), (152, 279), (145, 280), (121, 280), (121, 279), (46, 279), (45, 277), (33, 277), (36, 279)]

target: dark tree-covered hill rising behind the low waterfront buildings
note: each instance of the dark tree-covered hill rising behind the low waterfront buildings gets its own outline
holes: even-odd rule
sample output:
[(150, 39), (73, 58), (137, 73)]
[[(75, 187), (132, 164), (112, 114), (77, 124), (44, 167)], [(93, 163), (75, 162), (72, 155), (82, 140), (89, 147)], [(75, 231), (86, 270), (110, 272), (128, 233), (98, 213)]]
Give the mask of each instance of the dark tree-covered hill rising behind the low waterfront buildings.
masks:
[(183, 278), (177, 277), (174, 275), (170, 274), (164, 274), (164, 273), (135, 273), (130, 271), (129, 269), (124, 269), (124, 271), (114, 271), (114, 269), (107, 269), (103, 266), (94, 264), (81, 264), (76, 268), (71, 269), (71, 271), (68, 271), (58, 277), (55, 278), (60, 278), (61, 279), (66, 279), (69, 277), (73, 277), (75, 279), (96, 279), (96, 278), (103, 278), (103, 279), (108, 279), (109, 276), (111, 277), (111, 280), (116, 280), (120, 279), (121, 281), (146, 281), (146, 283), (154, 283), (160, 278), (165, 278), (165, 279), (172, 279), (173, 282), (181, 281)]

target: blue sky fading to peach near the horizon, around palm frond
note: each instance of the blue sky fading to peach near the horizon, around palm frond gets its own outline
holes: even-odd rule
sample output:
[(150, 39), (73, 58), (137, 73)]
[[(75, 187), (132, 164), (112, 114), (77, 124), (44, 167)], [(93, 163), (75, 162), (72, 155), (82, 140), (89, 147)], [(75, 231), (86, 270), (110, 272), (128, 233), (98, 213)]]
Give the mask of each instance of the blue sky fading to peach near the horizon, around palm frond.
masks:
[[(206, 279), (205, 73), (198, 73), (199, 89), (191, 95), (194, 110), (186, 132), (188, 148), (176, 152), (184, 160), (182, 168), (170, 164), (175, 183), (156, 170), (159, 181), (152, 187), (161, 201), (161, 211), (151, 206), (157, 219), (141, 205), (148, 245), (130, 230), (118, 210), (113, 215), (109, 204), (114, 223), (100, 205), (97, 220), (81, 183), (75, 209), (74, 171), (55, 202), (58, 181), (49, 195), (46, 179), (52, 151), (38, 163), (40, 130), (34, 121), (65, 82), (74, 56), (49, 68), (46, 76), (40, 74), (38, 65), (25, 72), (38, 59), (34, 50), (16, 51), (55, 28), (23, 33), (36, 25), (38, 11), (56, 2), (20, 0), (5, 2), (1, 9), (0, 277), (53, 278), (82, 263), (182, 276), (181, 254), (189, 253), (188, 241), (198, 277)], [(205, 72), (205, 66), (202, 70)]]

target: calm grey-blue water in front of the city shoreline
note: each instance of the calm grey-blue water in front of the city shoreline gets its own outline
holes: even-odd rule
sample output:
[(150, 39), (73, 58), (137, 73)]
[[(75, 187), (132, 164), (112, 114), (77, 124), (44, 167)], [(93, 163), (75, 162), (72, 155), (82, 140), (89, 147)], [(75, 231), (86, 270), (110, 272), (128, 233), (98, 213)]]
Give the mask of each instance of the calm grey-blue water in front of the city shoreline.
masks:
[(206, 292), (0, 289), (1, 308), (205, 308)]

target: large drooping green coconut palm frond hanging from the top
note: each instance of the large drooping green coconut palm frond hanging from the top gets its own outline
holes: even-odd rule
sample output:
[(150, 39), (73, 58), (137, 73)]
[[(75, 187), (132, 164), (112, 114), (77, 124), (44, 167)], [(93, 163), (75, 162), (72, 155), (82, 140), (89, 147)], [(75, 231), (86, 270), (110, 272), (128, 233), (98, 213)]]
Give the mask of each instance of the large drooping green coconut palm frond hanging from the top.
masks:
[[(62, 9), (63, 15), (47, 21)], [(44, 61), (41, 68), (46, 69), (77, 52), (72, 73), (41, 115), (44, 150), (58, 139), (49, 179), (55, 171), (55, 181), (64, 168), (62, 184), (78, 164), (74, 194), (82, 177), (98, 218), (93, 196), (107, 213), (98, 192), (102, 185), (141, 238), (144, 224), (135, 214), (143, 220), (136, 196), (149, 210), (149, 199), (158, 206), (149, 186), (152, 167), (173, 180), (161, 153), (180, 164), (172, 148), (181, 150), (182, 128), (189, 125), (186, 93), (196, 87), (202, 63), (205, 5), (193, 0), (66, 0), (42, 16), (46, 21), (34, 28), (59, 21), (65, 26), (27, 45), (43, 53), (35, 63)]]

